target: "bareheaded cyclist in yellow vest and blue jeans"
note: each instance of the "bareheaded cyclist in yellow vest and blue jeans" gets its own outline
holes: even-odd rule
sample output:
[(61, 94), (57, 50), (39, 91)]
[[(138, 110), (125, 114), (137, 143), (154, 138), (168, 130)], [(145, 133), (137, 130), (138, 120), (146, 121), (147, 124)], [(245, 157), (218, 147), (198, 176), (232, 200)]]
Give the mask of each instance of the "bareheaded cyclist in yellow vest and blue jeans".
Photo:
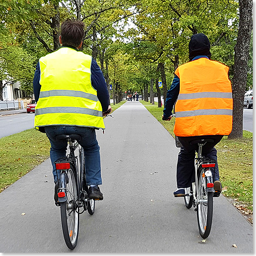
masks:
[[(65, 20), (60, 27), (59, 50), (39, 59), (34, 74), (34, 127), (45, 132), (51, 143), (54, 200), (58, 205), (58, 178), (54, 162), (66, 155), (67, 142), (56, 135), (75, 133), (85, 152), (89, 198), (103, 199), (100, 147), (95, 129), (105, 129), (103, 115), (111, 112), (105, 78), (96, 60), (78, 51), (82, 46), (84, 23)], [(58, 173), (59, 175), (59, 173)]]

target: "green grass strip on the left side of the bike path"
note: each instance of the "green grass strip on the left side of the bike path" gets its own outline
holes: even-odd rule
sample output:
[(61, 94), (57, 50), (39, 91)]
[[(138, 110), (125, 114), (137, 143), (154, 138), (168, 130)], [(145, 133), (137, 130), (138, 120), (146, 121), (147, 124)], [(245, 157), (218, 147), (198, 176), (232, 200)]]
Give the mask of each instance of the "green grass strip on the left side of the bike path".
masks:
[[(113, 111), (126, 101), (111, 104)], [(29, 129), (0, 138), (0, 192), (50, 156), (45, 133)]]

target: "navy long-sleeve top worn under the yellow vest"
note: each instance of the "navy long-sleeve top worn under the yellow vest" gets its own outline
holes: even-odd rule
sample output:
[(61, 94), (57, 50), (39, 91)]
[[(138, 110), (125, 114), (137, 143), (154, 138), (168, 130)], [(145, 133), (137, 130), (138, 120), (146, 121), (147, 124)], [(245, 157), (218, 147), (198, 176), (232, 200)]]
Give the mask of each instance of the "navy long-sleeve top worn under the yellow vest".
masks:
[[(107, 83), (95, 59), (92, 59), (91, 72), (92, 72), (92, 75), (91, 75), (92, 86), (97, 91), (97, 97), (101, 103), (102, 112), (105, 112), (107, 111), (109, 106), (109, 94), (107, 89)], [(38, 64), (36, 65), (35, 75), (33, 80), (33, 88), (34, 88), (34, 95), (35, 95), (36, 102), (39, 99), (39, 94), (41, 89), (41, 84), (39, 83), (40, 75), (41, 75), (41, 71), (40, 71), (40, 65), (38, 62)]]

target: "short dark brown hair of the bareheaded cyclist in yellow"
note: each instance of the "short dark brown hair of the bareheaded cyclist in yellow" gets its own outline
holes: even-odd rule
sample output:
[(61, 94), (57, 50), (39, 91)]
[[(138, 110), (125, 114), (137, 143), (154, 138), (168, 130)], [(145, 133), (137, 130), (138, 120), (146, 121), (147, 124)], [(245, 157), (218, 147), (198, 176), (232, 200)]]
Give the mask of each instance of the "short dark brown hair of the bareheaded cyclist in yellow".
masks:
[(60, 26), (63, 46), (78, 47), (84, 36), (84, 23), (76, 20), (65, 20)]

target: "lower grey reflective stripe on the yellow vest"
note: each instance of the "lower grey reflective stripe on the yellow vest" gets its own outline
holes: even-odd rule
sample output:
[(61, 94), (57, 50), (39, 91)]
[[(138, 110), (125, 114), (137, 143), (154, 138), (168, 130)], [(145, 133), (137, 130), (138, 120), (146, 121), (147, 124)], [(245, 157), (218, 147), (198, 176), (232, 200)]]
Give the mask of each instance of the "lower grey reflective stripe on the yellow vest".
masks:
[(51, 114), (51, 113), (76, 113), (76, 114), (88, 114), (95, 117), (102, 117), (102, 112), (90, 108), (81, 107), (45, 107), (35, 109), (35, 115)]

